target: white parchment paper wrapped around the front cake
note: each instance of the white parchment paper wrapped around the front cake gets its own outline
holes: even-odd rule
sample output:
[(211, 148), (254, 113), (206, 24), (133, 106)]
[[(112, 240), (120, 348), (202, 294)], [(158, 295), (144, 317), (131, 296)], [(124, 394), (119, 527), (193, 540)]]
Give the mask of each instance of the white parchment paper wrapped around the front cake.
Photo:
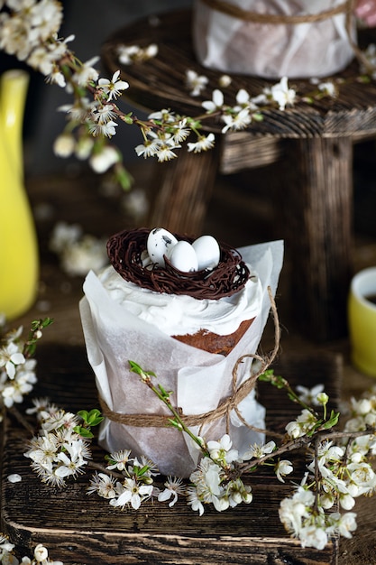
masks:
[[(243, 260), (258, 273), (263, 289), (261, 313), (253, 321), (230, 355), (210, 354), (166, 336), (151, 324), (139, 320), (109, 298), (94, 273), (84, 283), (80, 302), (87, 357), (96, 375), (99, 395), (114, 412), (155, 414), (170, 412), (155, 394), (129, 371), (129, 360), (153, 371), (165, 390), (174, 391), (176, 402), (186, 415), (216, 409), (232, 391), (233, 367), (243, 354), (257, 351), (271, 308), (267, 286), (276, 291), (283, 261), (283, 242), (252, 245), (240, 249)], [(250, 363), (240, 366), (240, 384), (249, 376)], [(264, 428), (264, 408), (250, 394), (238, 405), (248, 423)], [(192, 428), (197, 433), (197, 429)], [(218, 440), (225, 433), (225, 418), (210, 423), (201, 435)], [(261, 434), (241, 425), (231, 413), (230, 435), (234, 446), (245, 450), (263, 440)], [(196, 468), (199, 451), (185, 434), (174, 428), (128, 426), (105, 420), (99, 434), (100, 445), (109, 452), (132, 449), (134, 455), (151, 458), (164, 475), (188, 477)]]

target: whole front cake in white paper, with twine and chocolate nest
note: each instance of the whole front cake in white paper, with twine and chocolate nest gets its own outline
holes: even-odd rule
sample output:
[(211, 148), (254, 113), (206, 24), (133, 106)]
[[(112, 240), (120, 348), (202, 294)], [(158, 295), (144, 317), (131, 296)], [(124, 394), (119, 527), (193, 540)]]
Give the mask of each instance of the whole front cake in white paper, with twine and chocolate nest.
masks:
[[(263, 434), (252, 428), (264, 428), (265, 411), (254, 390), (236, 410), (229, 406), (227, 413), (218, 407), (251, 376), (252, 357), (239, 364), (236, 375), (234, 366), (259, 346), (271, 308), (268, 287), (274, 294), (283, 243), (238, 251), (221, 245), (219, 264), (202, 268), (198, 263), (196, 271), (191, 267), (182, 272), (179, 254), (171, 249), (165, 248), (161, 258), (151, 258), (151, 232), (140, 229), (112, 237), (112, 265), (99, 276), (88, 273), (84, 283), (81, 320), (105, 415), (99, 443), (110, 452), (132, 449), (137, 456), (151, 458), (164, 475), (188, 477), (197, 466), (199, 451), (185, 434), (168, 427), (170, 412), (130, 371), (129, 361), (153, 371), (158, 376), (155, 384), (172, 391), (171, 402), (195, 434), (218, 440), (229, 432), (240, 453), (261, 442)], [(187, 262), (192, 242), (183, 245), (187, 238), (172, 238), (171, 247), (176, 252), (179, 243), (180, 258)], [(216, 298), (211, 297), (216, 286), (208, 283), (211, 276), (218, 278)], [(229, 292), (231, 285), (235, 292)]]

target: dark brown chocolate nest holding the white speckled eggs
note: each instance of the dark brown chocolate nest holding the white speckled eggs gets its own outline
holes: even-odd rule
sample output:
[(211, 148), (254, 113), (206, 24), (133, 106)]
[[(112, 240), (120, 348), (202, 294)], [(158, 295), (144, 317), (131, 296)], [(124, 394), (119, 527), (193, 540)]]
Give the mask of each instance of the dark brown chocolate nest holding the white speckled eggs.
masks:
[[(107, 254), (111, 264), (125, 281), (154, 292), (218, 300), (241, 290), (250, 277), (242, 255), (234, 247), (222, 243), (220, 261), (215, 269), (182, 273), (166, 258), (164, 268), (155, 264), (144, 267), (142, 253), (146, 251), (149, 233), (149, 228), (142, 227), (123, 231), (108, 240)], [(187, 236), (174, 236), (189, 243), (194, 241)]]

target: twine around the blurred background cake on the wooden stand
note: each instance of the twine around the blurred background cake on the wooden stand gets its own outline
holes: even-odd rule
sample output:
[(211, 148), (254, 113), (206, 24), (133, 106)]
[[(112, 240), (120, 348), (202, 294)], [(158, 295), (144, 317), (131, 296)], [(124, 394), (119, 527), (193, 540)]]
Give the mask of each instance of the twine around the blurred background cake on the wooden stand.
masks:
[(261, 24), (285, 24), (285, 25), (298, 25), (299, 23), (319, 23), (330, 18), (335, 17), (338, 14), (345, 14), (346, 16), (346, 32), (347, 39), (350, 43), (355, 57), (362, 63), (362, 65), (369, 72), (374, 70), (370, 61), (363, 55), (362, 51), (359, 49), (356, 42), (353, 41), (352, 36), (352, 23), (353, 14), (355, 9), (355, 0), (344, 0), (339, 5), (324, 10), (322, 12), (317, 12), (316, 14), (271, 14), (271, 13), (261, 13), (253, 12), (252, 10), (244, 10), (238, 5), (234, 5), (226, 0), (200, 0), (202, 4), (207, 5), (209, 8), (220, 12), (221, 14), (229, 15), (233, 18), (238, 18), (244, 22), (250, 23), (261, 23)]

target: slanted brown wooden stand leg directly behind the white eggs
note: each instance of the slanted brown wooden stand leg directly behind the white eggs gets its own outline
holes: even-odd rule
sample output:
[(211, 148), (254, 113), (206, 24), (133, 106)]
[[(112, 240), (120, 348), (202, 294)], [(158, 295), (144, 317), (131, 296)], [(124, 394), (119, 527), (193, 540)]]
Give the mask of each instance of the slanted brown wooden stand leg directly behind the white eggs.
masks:
[(218, 169), (218, 148), (193, 154), (181, 150), (178, 159), (157, 163), (158, 189), (151, 203), (149, 227), (200, 236)]

